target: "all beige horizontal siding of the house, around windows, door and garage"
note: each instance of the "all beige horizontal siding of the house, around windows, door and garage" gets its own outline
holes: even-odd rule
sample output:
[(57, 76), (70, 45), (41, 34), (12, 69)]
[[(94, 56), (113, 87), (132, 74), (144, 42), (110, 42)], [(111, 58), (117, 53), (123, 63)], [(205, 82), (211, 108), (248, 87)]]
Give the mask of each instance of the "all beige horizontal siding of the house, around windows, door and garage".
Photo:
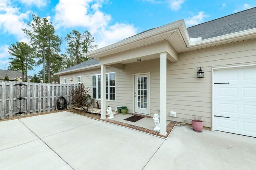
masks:
[[(204, 126), (211, 127), (211, 69), (231, 65), (256, 63), (256, 40), (246, 40), (227, 45), (209, 47), (180, 53), (177, 63), (167, 61), (167, 119), (191, 123), (192, 115), (202, 117)], [(116, 108), (126, 105), (132, 112), (132, 74), (150, 72), (151, 116), (159, 113), (159, 59), (134, 61), (126, 64), (123, 70), (106, 68), (106, 72), (116, 72), (116, 101), (107, 101), (106, 106)], [(198, 68), (202, 67), (204, 78), (197, 78)], [(61, 83), (81, 82), (92, 86), (92, 75), (100, 74), (100, 69), (88, 70), (61, 76)], [(70, 78), (73, 77), (73, 81)], [(97, 100), (96, 100), (97, 101)], [(170, 111), (176, 111), (176, 118), (170, 117)]]

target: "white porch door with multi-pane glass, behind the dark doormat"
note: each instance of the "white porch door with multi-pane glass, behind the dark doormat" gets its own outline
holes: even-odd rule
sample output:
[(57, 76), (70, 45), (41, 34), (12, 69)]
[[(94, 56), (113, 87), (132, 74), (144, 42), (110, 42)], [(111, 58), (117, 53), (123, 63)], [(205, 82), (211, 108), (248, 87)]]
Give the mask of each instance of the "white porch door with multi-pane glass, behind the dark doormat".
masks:
[(135, 75), (134, 77), (135, 89), (134, 89), (134, 111), (135, 113), (142, 113), (149, 115), (149, 74)]

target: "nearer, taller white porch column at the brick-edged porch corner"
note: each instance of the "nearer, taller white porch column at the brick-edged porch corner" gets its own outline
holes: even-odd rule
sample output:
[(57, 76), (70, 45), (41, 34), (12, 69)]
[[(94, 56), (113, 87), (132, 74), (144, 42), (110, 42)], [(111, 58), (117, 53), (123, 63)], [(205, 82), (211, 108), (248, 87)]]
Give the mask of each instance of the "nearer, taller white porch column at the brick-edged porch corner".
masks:
[(166, 64), (167, 53), (160, 53), (160, 134), (166, 135)]

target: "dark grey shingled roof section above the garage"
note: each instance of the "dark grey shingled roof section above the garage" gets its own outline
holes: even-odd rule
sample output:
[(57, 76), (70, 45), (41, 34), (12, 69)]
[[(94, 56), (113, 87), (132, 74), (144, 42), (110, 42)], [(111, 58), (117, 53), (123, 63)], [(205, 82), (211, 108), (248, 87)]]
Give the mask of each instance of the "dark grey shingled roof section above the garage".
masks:
[(256, 28), (256, 7), (187, 28), (190, 38), (202, 40)]

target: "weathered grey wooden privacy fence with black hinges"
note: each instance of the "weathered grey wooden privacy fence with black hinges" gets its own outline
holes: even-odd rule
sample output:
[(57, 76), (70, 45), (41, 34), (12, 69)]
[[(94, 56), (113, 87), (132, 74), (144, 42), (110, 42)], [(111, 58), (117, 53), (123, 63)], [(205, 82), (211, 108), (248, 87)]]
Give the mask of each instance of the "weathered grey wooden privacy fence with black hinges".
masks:
[(64, 96), (71, 106), (70, 93), (77, 84), (27, 83), (0, 81), (0, 117), (30, 115), (56, 110), (57, 99)]

